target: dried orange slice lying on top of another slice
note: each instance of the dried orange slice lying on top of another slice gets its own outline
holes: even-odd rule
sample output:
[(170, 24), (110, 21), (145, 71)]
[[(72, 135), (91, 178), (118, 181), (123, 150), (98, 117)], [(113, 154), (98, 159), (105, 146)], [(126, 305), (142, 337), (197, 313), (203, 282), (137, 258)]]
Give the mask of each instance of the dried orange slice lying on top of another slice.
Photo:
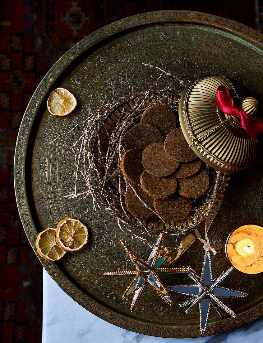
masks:
[(88, 243), (89, 232), (78, 219), (67, 217), (57, 224), (56, 240), (62, 250), (76, 252)]

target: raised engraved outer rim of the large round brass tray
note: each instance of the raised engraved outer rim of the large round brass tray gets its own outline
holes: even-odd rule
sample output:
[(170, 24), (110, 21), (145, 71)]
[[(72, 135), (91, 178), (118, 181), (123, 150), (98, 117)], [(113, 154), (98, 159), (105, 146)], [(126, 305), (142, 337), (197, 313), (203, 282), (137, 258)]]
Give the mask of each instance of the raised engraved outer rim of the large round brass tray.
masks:
[[(29, 141), (30, 131), (37, 116), (38, 110), (43, 99), (46, 97), (53, 83), (56, 81), (57, 77), (64, 72), (64, 70), (79, 56), (84, 52), (91, 49), (97, 43), (102, 42), (106, 38), (116, 35), (122, 31), (127, 31), (128, 29), (139, 28), (141, 26), (150, 25), (150, 24), (163, 24), (175, 22), (178, 24), (192, 24), (192, 25), (202, 25), (207, 27), (213, 27), (214, 29), (219, 29), (226, 31), (228, 33), (234, 34), (241, 37), (241, 39), (257, 45), (259, 49), (263, 48), (263, 34), (260, 32), (251, 29), (248, 26), (239, 24), (235, 21), (226, 20), (222, 17), (217, 17), (214, 15), (196, 12), (196, 11), (179, 11), (179, 10), (167, 10), (167, 11), (156, 11), (156, 12), (147, 12), (138, 15), (134, 15), (117, 22), (106, 25), (89, 36), (83, 38), (79, 43), (69, 49), (48, 71), (44, 76), (43, 80), (37, 87), (36, 91), (32, 95), (32, 98), (25, 110), (21, 126), (19, 128), (16, 148), (15, 148), (15, 158), (14, 158), (14, 187), (15, 187), (15, 196), (19, 215), (25, 230), (25, 233), (28, 237), (28, 240), (32, 246), (32, 249), (37, 254), (35, 248), (35, 240), (37, 236), (37, 230), (32, 218), (30, 211), (28, 199), (27, 199), (27, 188), (25, 180), (25, 170), (26, 170), (26, 154), (27, 154), (27, 144)], [(229, 25), (229, 24), (232, 24)], [(116, 325), (123, 329), (134, 331), (137, 333), (143, 333), (152, 336), (167, 337), (167, 338), (190, 338), (193, 335), (180, 335), (174, 334), (174, 328), (166, 323), (152, 323), (148, 321), (147, 323), (143, 322), (140, 319), (129, 318), (129, 316), (124, 315), (120, 312), (116, 312), (111, 309), (110, 305), (107, 307), (102, 303), (94, 300), (90, 295), (84, 293), (75, 283), (67, 278), (67, 276), (61, 271), (56, 263), (48, 262), (43, 259), (40, 259), (41, 264), (47, 270), (49, 275), (53, 280), (75, 301), (77, 301), (81, 306), (95, 314), (96, 316)], [(255, 304), (252, 308), (257, 308)], [(238, 320), (235, 324), (236, 328), (242, 326), (246, 323), (249, 323), (260, 316), (263, 315), (263, 308), (258, 308), (260, 314), (251, 315), (251, 309), (246, 310), (243, 314), (250, 313), (249, 319), (246, 322), (242, 322), (242, 318)], [(220, 323), (224, 323), (226, 319), (221, 319)], [(147, 328), (145, 328), (147, 324)], [(180, 325), (179, 325), (180, 327)], [(183, 328), (183, 327), (182, 327)], [(225, 331), (231, 330), (233, 328), (227, 327)], [(211, 335), (211, 332), (206, 332), (205, 334), (197, 334), (197, 336), (206, 336)]]

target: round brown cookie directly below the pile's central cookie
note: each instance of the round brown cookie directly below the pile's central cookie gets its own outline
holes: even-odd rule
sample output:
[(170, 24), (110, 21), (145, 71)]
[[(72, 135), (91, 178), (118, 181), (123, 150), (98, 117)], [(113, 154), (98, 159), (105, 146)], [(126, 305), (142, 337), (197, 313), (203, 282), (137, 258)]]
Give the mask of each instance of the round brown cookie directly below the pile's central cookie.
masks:
[(141, 175), (141, 187), (150, 197), (164, 199), (176, 191), (177, 179), (174, 174), (167, 177), (158, 177), (144, 170)]

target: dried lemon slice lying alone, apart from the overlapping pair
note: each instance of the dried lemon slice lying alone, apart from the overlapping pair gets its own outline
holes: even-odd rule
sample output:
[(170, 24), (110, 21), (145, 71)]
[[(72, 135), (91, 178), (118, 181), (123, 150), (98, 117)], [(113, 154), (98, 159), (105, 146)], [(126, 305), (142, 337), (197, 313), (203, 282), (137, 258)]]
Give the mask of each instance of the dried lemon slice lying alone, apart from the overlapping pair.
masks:
[(56, 88), (47, 101), (48, 110), (54, 116), (66, 116), (77, 106), (77, 100), (65, 88)]

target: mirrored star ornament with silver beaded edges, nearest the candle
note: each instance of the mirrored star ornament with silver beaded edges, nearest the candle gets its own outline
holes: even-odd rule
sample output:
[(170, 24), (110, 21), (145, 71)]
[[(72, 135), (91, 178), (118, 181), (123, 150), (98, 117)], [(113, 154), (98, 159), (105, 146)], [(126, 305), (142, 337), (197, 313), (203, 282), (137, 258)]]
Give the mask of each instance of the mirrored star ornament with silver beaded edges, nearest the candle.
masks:
[(233, 267), (229, 268), (225, 272), (220, 273), (219, 276), (215, 280), (213, 280), (211, 269), (211, 257), (209, 254), (209, 250), (206, 250), (205, 258), (203, 260), (201, 277), (199, 277), (191, 267), (187, 267), (186, 269), (187, 275), (190, 276), (190, 278), (195, 282), (195, 284), (169, 286), (168, 289), (172, 292), (192, 296), (190, 299), (179, 304), (179, 307), (190, 305), (186, 309), (185, 313), (188, 313), (196, 305), (199, 305), (201, 333), (204, 333), (206, 330), (207, 319), (211, 304), (214, 306), (216, 312), (218, 312), (221, 318), (223, 317), (221, 309), (225, 310), (229, 315), (236, 318), (235, 313), (228, 306), (226, 306), (219, 299), (219, 297), (246, 297), (248, 293), (238, 292), (234, 289), (229, 289), (225, 287), (218, 287), (218, 285), (234, 270)]

